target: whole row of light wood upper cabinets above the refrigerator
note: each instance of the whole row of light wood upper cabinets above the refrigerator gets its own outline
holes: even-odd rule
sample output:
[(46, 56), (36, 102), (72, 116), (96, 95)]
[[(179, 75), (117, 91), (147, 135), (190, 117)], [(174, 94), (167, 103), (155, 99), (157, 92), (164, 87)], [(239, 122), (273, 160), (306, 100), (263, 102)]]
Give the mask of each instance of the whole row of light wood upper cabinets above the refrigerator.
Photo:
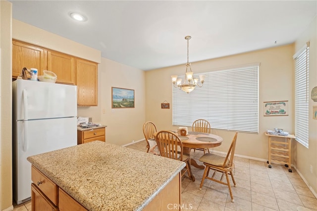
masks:
[(37, 68), (38, 75), (49, 70), (57, 75), (56, 83), (77, 85), (78, 106), (98, 106), (98, 64), (65, 53), (12, 40), (12, 78), (22, 68)]

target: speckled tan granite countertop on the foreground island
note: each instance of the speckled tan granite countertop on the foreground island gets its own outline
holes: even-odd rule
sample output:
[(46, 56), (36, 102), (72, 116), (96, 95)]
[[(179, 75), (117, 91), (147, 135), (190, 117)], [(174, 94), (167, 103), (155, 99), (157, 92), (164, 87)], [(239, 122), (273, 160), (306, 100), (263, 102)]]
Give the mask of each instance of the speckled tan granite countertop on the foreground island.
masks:
[(90, 211), (142, 210), (186, 166), (101, 141), (27, 159)]

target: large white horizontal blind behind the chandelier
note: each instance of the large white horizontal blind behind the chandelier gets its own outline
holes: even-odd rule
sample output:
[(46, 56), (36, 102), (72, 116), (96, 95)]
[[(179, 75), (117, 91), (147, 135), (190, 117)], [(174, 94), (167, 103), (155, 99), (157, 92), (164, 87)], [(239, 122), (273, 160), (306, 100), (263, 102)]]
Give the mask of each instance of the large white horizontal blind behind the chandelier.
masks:
[(204, 86), (189, 94), (173, 88), (173, 125), (191, 127), (202, 118), (214, 129), (258, 133), (259, 65), (200, 72)]

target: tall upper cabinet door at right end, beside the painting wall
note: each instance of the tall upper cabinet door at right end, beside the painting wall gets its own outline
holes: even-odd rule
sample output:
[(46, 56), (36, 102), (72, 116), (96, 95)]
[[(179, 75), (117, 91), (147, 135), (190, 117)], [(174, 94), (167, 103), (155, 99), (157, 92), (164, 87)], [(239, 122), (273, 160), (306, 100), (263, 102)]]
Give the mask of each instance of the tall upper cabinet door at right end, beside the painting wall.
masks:
[(98, 105), (97, 63), (76, 58), (77, 105)]

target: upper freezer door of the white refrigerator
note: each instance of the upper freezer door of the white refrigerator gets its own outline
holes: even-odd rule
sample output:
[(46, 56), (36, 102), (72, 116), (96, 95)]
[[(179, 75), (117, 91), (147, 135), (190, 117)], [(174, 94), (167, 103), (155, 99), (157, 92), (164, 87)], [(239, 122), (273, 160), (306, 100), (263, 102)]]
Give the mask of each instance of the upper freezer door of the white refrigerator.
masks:
[(77, 116), (77, 86), (30, 80), (12, 84), (17, 120)]

